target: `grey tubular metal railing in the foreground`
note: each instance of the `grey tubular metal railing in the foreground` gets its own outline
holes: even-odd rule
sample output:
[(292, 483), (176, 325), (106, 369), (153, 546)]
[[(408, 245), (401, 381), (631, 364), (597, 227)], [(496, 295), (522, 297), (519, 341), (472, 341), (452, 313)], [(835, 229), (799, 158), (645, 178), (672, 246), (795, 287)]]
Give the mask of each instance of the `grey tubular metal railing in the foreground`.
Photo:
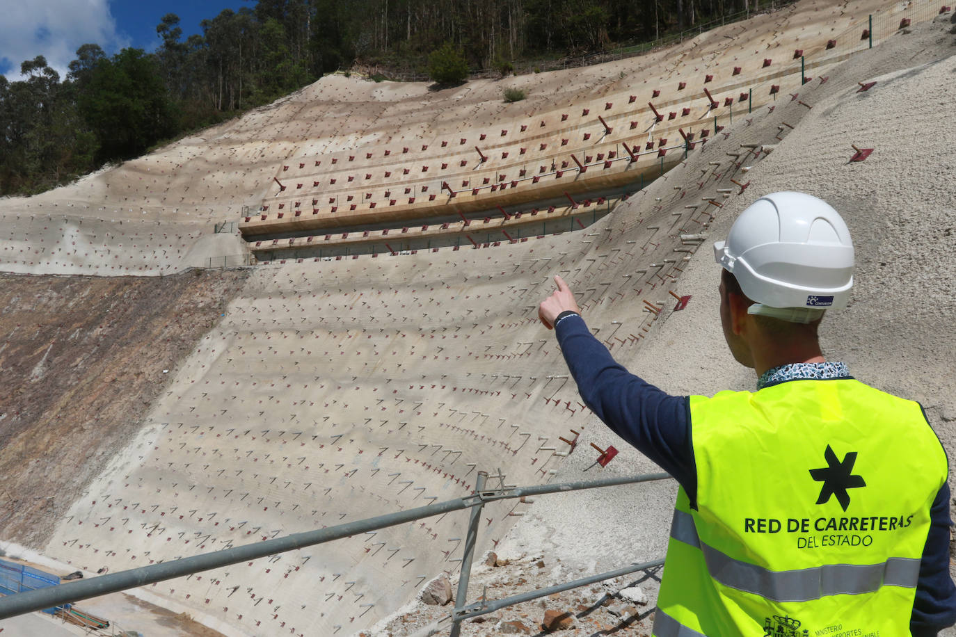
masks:
[(444, 502), (436, 502), (414, 509), (388, 513), (375, 518), (346, 522), (344, 524), (316, 529), (314, 531), (306, 531), (304, 533), (295, 533), (283, 538), (259, 541), (253, 544), (236, 546), (220, 551), (202, 553), (188, 558), (180, 558), (169, 562), (154, 563), (139, 568), (108, 573), (88, 580), (76, 580), (66, 584), (51, 585), (46, 588), (15, 592), (11, 595), (0, 597), (0, 620), (33, 612), (34, 610), (74, 604), (82, 600), (99, 597), (100, 595), (116, 593), (129, 588), (137, 588), (146, 584), (164, 582), (166, 580), (192, 575), (193, 573), (201, 573), (231, 564), (249, 562), (250, 560), (257, 560), (278, 553), (293, 551), (307, 546), (315, 546), (316, 544), (327, 541), (340, 540), (360, 533), (377, 531), (405, 522), (431, 518), (463, 509), (470, 509), (470, 516), (467, 526), (464, 554), (461, 558), (461, 574), (458, 579), (458, 592), (455, 595), (455, 607), (445, 618), (451, 621), (450, 637), (457, 637), (459, 635), (461, 622), (468, 618), (484, 615), (505, 606), (545, 597), (555, 592), (570, 590), (578, 586), (594, 584), (602, 580), (610, 580), (628, 573), (649, 570), (663, 565), (663, 559), (645, 563), (634, 563), (574, 582), (556, 584), (500, 600), (489, 601), (485, 599), (483, 595), (479, 601), (473, 604), (467, 604), (467, 587), (478, 538), (478, 521), (481, 519), (481, 510), (485, 504), (501, 499), (520, 499), (546, 494), (568, 493), (583, 489), (597, 489), (601, 487), (663, 480), (671, 477), (665, 473), (641, 474), (639, 476), (563, 482), (560, 484), (541, 484), (526, 487), (506, 485), (504, 484), (504, 477), (500, 475), (493, 478), (500, 479), (501, 485), (498, 488), (488, 488), (488, 473), (484, 471), (479, 472), (478, 477), (475, 479), (474, 492), (472, 495), (464, 498), (449, 499)]

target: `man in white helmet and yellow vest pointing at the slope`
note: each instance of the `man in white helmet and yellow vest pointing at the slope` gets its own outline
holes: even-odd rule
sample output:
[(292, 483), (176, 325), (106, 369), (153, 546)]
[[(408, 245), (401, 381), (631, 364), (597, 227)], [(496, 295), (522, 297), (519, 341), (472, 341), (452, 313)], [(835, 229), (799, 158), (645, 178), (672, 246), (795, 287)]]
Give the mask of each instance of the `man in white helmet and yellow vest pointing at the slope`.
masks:
[(615, 363), (571, 289), (539, 309), (578, 391), (680, 483), (655, 637), (935, 635), (956, 622), (946, 456), (919, 403), (855, 380), (816, 335), (853, 286), (850, 233), (795, 192), (714, 245), (728, 347), (756, 392), (671, 396)]

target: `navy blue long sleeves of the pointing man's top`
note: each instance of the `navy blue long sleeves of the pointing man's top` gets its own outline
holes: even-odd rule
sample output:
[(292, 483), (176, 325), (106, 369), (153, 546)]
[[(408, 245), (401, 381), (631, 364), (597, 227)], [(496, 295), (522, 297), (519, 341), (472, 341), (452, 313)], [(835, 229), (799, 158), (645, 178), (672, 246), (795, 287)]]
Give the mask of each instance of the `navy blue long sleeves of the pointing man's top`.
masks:
[[(697, 467), (688, 396), (664, 393), (627, 372), (577, 314), (562, 312), (554, 329), (584, 403), (615, 434), (677, 479), (696, 508)], [(956, 624), (956, 586), (949, 576), (952, 520), (947, 483), (936, 495), (930, 514), (910, 619), (914, 637), (936, 635), (945, 626)]]

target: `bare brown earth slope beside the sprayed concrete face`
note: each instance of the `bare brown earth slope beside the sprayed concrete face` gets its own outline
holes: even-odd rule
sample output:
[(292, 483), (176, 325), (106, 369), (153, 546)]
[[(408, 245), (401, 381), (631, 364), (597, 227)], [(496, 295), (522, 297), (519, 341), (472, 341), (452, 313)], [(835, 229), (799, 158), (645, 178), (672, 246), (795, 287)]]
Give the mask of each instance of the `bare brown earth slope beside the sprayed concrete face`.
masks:
[(4, 540), (49, 540), (245, 278), (0, 274)]

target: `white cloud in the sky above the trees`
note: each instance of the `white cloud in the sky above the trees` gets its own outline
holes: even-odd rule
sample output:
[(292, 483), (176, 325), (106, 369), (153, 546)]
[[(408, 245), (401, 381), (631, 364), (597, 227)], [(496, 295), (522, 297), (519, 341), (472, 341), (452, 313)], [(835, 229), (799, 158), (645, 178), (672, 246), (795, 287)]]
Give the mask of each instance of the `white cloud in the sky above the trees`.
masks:
[(37, 55), (63, 79), (76, 49), (88, 42), (106, 52), (128, 45), (107, 0), (0, 0), (0, 74), (10, 80)]

